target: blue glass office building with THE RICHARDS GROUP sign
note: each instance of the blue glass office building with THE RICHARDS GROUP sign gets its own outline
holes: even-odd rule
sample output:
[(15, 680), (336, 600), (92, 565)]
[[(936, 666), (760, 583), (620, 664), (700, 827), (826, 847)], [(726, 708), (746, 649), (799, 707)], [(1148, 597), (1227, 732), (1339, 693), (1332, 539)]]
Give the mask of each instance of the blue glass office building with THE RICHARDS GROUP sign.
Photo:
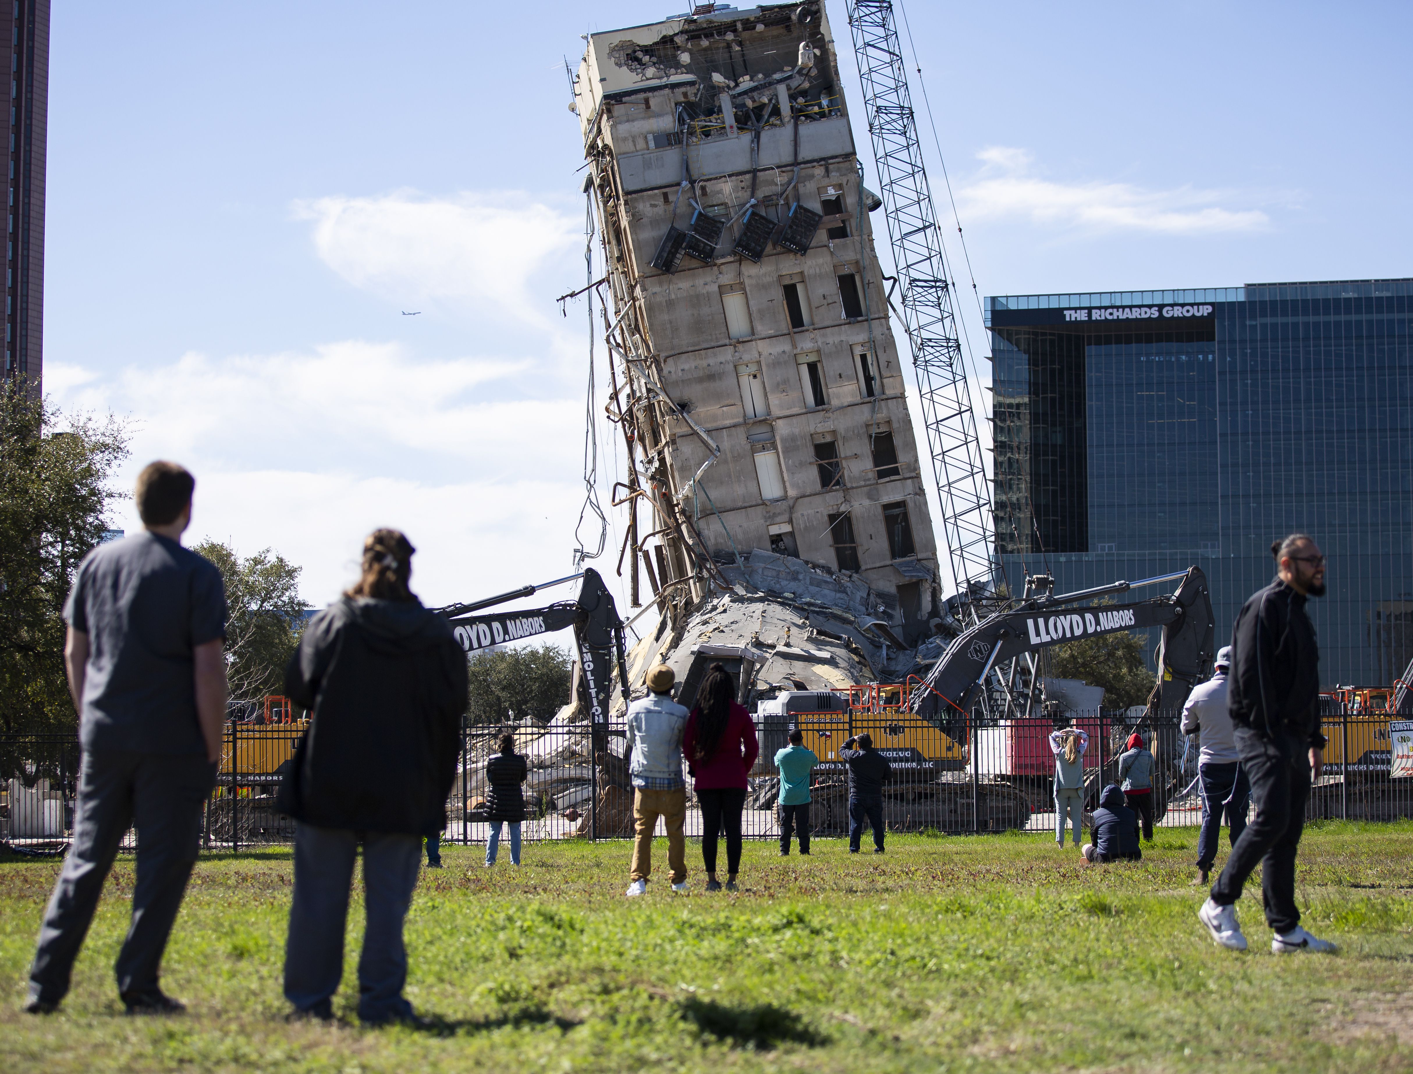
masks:
[(1012, 592), (1198, 564), (1226, 644), (1304, 531), (1330, 557), (1321, 684), (1389, 685), (1413, 659), (1410, 314), (1413, 280), (988, 298)]

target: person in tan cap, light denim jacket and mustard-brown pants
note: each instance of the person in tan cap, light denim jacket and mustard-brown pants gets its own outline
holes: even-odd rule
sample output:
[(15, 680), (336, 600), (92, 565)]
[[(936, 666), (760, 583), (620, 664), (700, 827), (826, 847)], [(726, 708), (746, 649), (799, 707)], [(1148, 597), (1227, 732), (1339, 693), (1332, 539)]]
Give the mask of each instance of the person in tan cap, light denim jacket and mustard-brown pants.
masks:
[(687, 781), (682, 779), (682, 731), (687, 709), (673, 701), (673, 668), (657, 664), (647, 673), (649, 695), (627, 707), (625, 752), (633, 779), (633, 863), (630, 899), (647, 895), (653, 872), (653, 832), (657, 818), (667, 828), (667, 866), (673, 890), (687, 890)]

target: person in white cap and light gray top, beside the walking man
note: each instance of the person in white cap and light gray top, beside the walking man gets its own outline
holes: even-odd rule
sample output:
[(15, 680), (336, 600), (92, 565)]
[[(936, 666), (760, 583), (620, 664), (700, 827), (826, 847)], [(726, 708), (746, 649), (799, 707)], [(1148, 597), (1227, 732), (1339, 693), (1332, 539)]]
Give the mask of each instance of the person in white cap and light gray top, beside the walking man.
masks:
[(1217, 844), (1222, 834), (1222, 813), (1226, 814), (1226, 835), (1236, 845), (1246, 828), (1251, 781), (1236, 756), (1232, 739), (1232, 718), (1226, 709), (1226, 671), (1232, 664), (1232, 647), (1217, 651), (1212, 677), (1193, 690), (1183, 705), (1183, 733), (1201, 735), (1202, 752), (1197, 760), (1197, 779), (1202, 793), (1202, 828), (1197, 837), (1197, 879), (1207, 883), (1207, 875), (1217, 861)]

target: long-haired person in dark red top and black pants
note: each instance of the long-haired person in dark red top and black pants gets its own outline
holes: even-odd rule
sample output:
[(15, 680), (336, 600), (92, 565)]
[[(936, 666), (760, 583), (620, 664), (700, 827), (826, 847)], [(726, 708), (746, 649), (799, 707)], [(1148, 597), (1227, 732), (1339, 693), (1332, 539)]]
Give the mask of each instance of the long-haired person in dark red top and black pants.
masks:
[(740, 811), (746, 807), (746, 773), (760, 743), (745, 705), (736, 704), (736, 684), (726, 668), (712, 664), (697, 708), (682, 729), (682, 753), (702, 807), (702, 865), (706, 890), (719, 892), (716, 842), (726, 834), (726, 890), (736, 890), (740, 869)]

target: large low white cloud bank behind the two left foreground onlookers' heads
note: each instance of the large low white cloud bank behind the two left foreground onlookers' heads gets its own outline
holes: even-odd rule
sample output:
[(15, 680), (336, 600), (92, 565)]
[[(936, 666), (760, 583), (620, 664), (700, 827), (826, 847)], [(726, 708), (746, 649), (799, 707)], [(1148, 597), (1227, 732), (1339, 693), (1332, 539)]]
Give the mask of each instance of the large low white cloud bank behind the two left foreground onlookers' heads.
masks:
[[(524, 362), (420, 360), (398, 343), (349, 341), (188, 353), (114, 376), (59, 369), (45, 372), (61, 407), (133, 418), (122, 485), (154, 458), (178, 459), (198, 478), (189, 540), (276, 548), (304, 568), (312, 603), (350, 582), (376, 526), (418, 547), (414, 588), (430, 603), (569, 572), (584, 401), (526, 397), (544, 377)], [(137, 529), (131, 504), (123, 512), (117, 524)]]

